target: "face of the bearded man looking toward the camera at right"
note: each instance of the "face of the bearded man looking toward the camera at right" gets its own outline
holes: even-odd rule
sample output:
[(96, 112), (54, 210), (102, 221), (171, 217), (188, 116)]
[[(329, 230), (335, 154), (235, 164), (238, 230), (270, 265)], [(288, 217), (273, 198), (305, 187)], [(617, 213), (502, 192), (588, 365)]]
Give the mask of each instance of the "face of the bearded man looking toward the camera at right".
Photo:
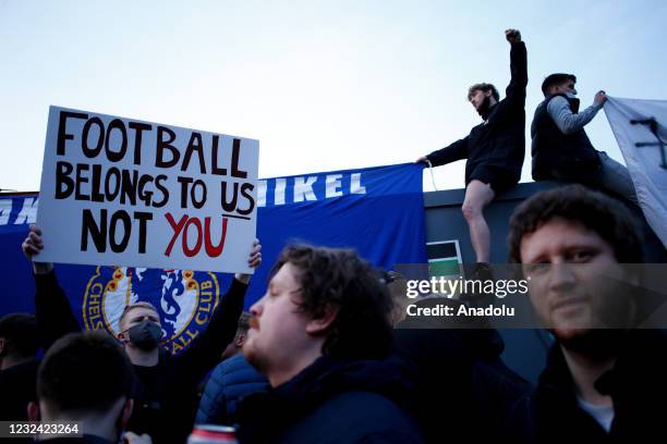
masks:
[(525, 234), (520, 250), (533, 308), (559, 340), (631, 317), (630, 298), (619, 295), (615, 284), (623, 270), (611, 246), (594, 231), (555, 218)]

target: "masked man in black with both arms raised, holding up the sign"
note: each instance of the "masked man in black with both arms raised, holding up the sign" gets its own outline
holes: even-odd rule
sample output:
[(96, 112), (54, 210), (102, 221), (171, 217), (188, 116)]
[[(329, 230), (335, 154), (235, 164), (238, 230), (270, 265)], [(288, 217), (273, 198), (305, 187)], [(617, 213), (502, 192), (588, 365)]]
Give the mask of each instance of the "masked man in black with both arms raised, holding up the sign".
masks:
[[(28, 259), (38, 259), (35, 256), (44, 248), (44, 243), (41, 231), (36, 225), (31, 225), (22, 248)], [(259, 266), (259, 250), (260, 246), (255, 242), (248, 259), (251, 267)], [(80, 331), (81, 326), (58, 284), (53, 266), (33, 261), (33, 271), (37, 324), (45, 336), (45, 346), (48, 346), (69, 332)], [(156, 308), (147, 303), (125, 307), (119, 322), (121, 332), (118, 340), (123, 343), (136, 374), (132, 396), (135, 407), (129, 430), (147, 433), (157, 443), (185, 441), (197, 407), (196, 385), (216, 366), (220, 354), (233, 340), (248, 282), (248, 274), (235, 274), (206, 330), (175, 357), (159, 346), (161, 326)]]

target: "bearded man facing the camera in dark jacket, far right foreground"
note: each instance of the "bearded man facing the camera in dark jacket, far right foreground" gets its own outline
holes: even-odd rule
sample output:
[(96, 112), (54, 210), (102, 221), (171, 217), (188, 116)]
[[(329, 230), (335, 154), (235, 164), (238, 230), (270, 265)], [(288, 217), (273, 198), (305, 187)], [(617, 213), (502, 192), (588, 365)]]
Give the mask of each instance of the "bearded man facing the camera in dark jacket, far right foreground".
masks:
[(556, 343), (508, 441), (663, 442), (667, 336), (635, 328), (651, 294), (621, 266), (643, 259), (630, 212), (580, 185), (543, 192), (514, 211), (509, 249)]

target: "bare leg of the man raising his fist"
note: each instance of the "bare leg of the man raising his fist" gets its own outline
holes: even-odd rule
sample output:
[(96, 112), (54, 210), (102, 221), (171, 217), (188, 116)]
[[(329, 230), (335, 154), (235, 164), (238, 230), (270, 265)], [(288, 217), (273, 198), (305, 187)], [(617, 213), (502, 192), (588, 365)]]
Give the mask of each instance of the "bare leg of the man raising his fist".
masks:
[(477, 262), (490, 262), (490, 231), (484, 220), (484, 208), (494, 200), (496, 194), (488, 184), (472, 180), (465, 188), (463, 217), (470, 229), (470, 240), (475, 250)]

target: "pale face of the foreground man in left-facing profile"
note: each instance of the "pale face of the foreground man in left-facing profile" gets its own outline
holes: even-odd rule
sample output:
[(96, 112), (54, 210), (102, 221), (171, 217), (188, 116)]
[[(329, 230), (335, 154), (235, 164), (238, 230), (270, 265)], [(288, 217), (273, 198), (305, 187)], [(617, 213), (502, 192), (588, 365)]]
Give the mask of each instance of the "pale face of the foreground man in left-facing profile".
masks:
[(264, 374), (290, 368), (311, 345), (310, 318), (301, 312), (299, 270), (283, 264), (269, 282), (266, 294), (254, 304), (250, 330), (243, 343), (248, 362)]

